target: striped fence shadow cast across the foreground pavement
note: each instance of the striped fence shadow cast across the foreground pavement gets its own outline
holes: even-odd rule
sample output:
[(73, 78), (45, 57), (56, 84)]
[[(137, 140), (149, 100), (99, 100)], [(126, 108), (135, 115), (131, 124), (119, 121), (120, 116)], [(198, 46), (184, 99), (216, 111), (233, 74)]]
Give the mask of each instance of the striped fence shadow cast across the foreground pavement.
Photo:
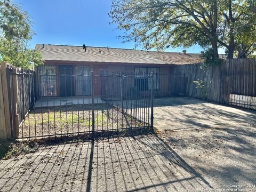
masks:
[(73, 140), (0, 161), (0, 191), (195, 191), (211, 188), (155, 134)]

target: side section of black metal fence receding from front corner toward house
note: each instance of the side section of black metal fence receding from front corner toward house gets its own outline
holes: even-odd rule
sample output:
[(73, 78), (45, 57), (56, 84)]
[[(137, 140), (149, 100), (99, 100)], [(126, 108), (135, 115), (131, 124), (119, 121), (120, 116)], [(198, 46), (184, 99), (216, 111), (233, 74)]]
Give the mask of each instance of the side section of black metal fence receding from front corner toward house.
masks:
[(101, 99), (121, 112), (124, 128), (153, 128), (154, 86), (153, 73), (101, 71)]

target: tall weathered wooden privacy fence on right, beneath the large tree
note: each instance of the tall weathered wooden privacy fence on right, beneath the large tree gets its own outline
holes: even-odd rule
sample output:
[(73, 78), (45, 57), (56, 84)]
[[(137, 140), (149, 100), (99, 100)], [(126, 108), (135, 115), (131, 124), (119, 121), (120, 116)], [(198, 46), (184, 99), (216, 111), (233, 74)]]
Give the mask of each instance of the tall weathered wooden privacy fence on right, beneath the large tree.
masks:
[[(256, 96), (256, 59), (224, 60), (206, 73), (200, 66), (201, 63), (174, 67), (170, 71), (170, 93), (223, 104), (230, 103), (230, 94)], [(203, 81), (204, 87), (196, 88), (195, 81)]]

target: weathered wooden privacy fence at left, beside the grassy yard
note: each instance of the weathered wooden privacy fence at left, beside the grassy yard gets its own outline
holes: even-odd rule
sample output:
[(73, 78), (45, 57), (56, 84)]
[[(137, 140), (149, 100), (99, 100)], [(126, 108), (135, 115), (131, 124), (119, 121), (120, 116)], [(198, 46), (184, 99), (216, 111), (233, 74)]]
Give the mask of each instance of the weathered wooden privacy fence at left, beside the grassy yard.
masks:
[(34, 71), (1, 63), (0, 138), (17, 138), (19, 125), (35, 100)]

